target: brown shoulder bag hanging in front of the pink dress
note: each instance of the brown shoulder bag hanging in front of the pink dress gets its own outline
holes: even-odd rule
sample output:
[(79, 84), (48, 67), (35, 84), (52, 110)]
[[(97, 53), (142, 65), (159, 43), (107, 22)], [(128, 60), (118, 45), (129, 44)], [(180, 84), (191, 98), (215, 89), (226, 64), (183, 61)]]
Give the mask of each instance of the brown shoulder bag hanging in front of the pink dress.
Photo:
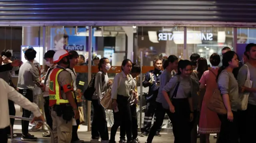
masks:
[[(226, 71), (224, 71), (226, 72)], [(222, 74), (222, 72), (220, 73)], [(220, 76), (219, 76), (220, 78)], [(219, 80), (219, 79), (218, 79)], [(218, 82), (217, 82), (218, 83)], [(208, 109), (216, 112), (217, 114), (227, 114), (227, 109), (224, 105), (220, 90), (218, 88), (214, 89), (210, 101), (208, 102)]]

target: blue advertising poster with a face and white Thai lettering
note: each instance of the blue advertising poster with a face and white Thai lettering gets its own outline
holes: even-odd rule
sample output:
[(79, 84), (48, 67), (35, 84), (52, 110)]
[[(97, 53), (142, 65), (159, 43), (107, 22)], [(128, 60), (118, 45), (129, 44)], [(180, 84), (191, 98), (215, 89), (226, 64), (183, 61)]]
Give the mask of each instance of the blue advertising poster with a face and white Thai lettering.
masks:
[[(94, 30), (92, 30), (92, 35), (93, 33)], [(86, 40), (87, 35), (88, 30), (86, 30), (86, 27), (51, 28), (51, 49), (54, 51), (58, 51), (59, 49), (88, 51), (88, 45), (86, 44), (86, 41), (88, 41)], [(94, 48), (95, 41), (95, 37), (92, 36), (92, 47)]]

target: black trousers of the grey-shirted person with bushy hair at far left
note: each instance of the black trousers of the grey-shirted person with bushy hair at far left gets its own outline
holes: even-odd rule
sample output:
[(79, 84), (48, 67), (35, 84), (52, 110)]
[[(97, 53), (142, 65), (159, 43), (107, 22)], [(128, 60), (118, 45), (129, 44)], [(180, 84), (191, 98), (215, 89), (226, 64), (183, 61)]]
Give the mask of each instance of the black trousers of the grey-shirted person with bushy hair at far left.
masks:
[[(26, 97), (30, 102), (34, 102), (34, 96), (33, 96), (33, 91), (32, 90), (30, 90), (30, 89), (20, 89), (19, 92), (24, 97)], [(31, 115), (31, 111), (22, 108), (22, 117), (30, 118), (30, 115)], [(24, 135), (28, 134), (28, 125), (29, 125), (29, 121), (21, 120), (22, 134), (24, 134)]]

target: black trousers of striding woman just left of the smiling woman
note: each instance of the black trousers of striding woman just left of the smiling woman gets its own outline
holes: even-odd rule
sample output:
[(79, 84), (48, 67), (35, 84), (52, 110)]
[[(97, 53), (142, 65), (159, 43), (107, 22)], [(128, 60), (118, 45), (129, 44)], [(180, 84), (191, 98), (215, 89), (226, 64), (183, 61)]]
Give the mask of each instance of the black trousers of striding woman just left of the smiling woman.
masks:
[(156, 121), (154, 122), (153, 126), (150, 129), (150, 132), (148, 134), (147, 143), (152, 143), (152, 140), (153, 140), (154, 136), (156, 135), (156, 131), (157, 131), (158, 127), (161, 127), (163, 124), (165, 114), (167, 114), (169, 116), (169, 118), (171, 117), (170, 110), (164, 109), (162, 106), (162, 103), (156, 102), (156, 110), (155, 110)]

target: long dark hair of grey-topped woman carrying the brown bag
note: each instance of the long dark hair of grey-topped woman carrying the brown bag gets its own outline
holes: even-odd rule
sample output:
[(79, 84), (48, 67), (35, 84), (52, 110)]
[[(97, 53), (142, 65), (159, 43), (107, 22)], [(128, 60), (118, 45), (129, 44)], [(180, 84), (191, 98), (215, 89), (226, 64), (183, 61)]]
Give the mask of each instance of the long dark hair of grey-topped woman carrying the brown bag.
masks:
[(218, 74), (217, 74), (217, 77), (216, 77), (217, 82), (218, 82), (218, 78), (220, 76), (220, 73), (229, 66), (228, 62), (232, 61), (234, 55), (236, 55), (237, 58), (238, 58), (238, 55), (234, 51), (227, 51), (226, 53), (223, 54), (223, 56), (222, 56), (222, 66), (218, 70)]

